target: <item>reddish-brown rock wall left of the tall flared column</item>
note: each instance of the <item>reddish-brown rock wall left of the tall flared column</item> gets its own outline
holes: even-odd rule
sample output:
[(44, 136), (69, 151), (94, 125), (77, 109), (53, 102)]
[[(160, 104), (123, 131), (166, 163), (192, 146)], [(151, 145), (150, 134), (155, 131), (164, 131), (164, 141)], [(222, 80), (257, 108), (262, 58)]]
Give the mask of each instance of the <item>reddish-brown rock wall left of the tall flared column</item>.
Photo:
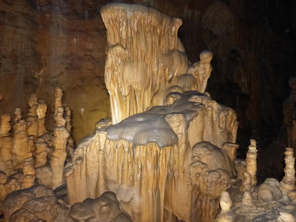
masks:
[(54, 101), (49, 98), (58, 85), (67, 91), (65, 104), (75, 110), (75, 139), (109, 116), (103, 78), (107, 40), (99, 14), (103, 3), (0, 1), (0, 28), (5, 33), (0, 38), (1, 114), (18, 106), (26, 113), (26, 100), (36, 92), (48, 100), (47, 116), (52, 116)]

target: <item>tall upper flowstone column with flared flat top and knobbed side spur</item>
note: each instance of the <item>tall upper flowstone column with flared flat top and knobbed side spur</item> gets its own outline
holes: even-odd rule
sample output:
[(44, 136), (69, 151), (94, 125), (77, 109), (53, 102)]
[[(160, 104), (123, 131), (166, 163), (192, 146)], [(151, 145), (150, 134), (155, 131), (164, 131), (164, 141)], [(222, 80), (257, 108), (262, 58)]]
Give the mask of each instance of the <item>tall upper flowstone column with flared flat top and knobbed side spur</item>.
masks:
[(205, 92), (213, 53), (188, 65), (178, 39), (182, 20), (152, 7), (107, 4), (101, 9), (107, 29), (105, 82), (110, 94), (112, 123), (151, 105), (165, 105), (170, 92)]

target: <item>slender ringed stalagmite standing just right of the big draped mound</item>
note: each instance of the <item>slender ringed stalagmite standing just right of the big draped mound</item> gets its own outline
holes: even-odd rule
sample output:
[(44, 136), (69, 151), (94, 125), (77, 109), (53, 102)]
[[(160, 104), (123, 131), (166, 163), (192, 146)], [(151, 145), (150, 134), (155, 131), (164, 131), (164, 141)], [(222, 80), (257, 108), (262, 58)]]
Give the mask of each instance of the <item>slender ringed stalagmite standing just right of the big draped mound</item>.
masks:
[(256, 178), (256, 172), (257, 172), (257, 147), (256, 147), (256, 141), (254, 139), (250, 140), (250, 146), (249, 150), (247, 152), (247, 172), (250, 173), (252, 178), (252, 186), (256, 186), (257, 184), (257, 178)]

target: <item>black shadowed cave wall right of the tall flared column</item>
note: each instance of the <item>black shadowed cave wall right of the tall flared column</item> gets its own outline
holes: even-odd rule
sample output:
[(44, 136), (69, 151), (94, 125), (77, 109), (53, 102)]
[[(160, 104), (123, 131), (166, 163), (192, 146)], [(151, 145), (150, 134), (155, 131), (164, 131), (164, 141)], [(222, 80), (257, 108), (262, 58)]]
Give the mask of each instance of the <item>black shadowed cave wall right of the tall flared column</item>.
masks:
[(296, 2), (207, 1), (201, 8), (194, 39), (187, 25), (180, 28), (186, 54), (196, 61), (202, 50), (214, 53), (207, 91), (237, 112), (238, 157), (245, 158), (249, 139), (256, 139), (259, 182), (281, 179), (287, 146), (282, 102), (296, 71)]

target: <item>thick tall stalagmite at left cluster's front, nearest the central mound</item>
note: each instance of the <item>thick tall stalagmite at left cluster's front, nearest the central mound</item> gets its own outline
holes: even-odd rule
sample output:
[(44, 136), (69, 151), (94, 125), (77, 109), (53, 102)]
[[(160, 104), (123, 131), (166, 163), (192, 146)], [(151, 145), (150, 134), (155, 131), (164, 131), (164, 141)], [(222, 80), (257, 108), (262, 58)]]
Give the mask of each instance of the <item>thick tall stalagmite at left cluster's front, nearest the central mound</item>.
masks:
[[(59, 88), (60, 89), (60, 88)], [(63, 107), (57, 107), (57, 114), (54, 116), (56, 126), (54, 127), (54, 151), (50, 155), (50, 167), (53, 172), (52, 189), (64, 184), (64, 164), (67, 159), (66, 145), (70, 136), (69, 131), (65, 128), (66, 120), (63, 118)]]

